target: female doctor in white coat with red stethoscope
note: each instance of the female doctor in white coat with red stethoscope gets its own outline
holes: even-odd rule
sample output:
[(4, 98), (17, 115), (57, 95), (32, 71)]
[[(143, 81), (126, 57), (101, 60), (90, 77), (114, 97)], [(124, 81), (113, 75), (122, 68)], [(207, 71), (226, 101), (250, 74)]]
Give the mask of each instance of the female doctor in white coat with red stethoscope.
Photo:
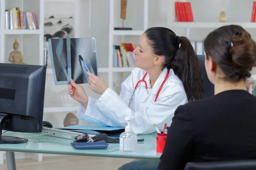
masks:
[(135, 66), (122, 82), (120, 95), (101, 78), (87, 72), (88, 87), (100, 94), (87, 96), (72, 79), (68, 92), (81, 103), (77, 116), (101, 126), (125, 127), (125, 117), (133, 117), (134, 133), (146, 134), (170, 125), (179, 105), (202, 99), (204, 88), (201, 66), (186, 37), (163, 27), (148, 28), (134, 49)]

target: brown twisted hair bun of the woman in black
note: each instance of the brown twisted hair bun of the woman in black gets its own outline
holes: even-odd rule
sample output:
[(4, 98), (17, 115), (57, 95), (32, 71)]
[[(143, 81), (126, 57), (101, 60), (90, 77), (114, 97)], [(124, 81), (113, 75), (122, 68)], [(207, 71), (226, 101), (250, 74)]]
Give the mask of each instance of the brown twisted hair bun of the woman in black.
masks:
[(250, 77), (251, 69), (256, 66), (256, 43), (246, 31), (236, 33), (231, 37), (230, 54), (232, 64), (239, 78)]

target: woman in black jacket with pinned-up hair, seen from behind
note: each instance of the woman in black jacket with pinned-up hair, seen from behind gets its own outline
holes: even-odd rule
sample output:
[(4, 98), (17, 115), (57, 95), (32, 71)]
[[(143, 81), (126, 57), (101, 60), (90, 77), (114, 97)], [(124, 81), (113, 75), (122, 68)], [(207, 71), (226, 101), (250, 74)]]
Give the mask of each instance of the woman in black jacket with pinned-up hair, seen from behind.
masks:
[[(256, 159), (256, 97), (245, 86), (256, 66), (256, 44), (241, 26), (230, 25), (212, 31), (204, 49), (215, 96), (177, 108), (160, 163), (152, 161), (150, 170), (157, 164), (158, 170), (183, 170), (189, 161)], [(143, 162), (122, 168), (139, 170)]]

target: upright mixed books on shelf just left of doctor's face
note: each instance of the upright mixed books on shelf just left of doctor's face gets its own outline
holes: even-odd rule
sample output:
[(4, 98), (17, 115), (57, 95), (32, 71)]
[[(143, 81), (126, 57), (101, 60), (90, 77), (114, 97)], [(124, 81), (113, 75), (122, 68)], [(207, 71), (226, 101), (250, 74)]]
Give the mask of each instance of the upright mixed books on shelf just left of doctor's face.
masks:
[(113, 45), (113, 67), (134, 67), (135, 55), (133, 43)]

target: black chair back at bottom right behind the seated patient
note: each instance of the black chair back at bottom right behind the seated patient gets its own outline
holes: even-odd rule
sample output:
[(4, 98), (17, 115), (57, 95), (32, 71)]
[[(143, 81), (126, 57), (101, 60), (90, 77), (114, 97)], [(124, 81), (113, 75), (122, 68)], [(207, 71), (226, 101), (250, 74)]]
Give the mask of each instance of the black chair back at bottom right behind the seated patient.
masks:
[(184, 170), (256, 170), (256, 160), (188, 162)]

